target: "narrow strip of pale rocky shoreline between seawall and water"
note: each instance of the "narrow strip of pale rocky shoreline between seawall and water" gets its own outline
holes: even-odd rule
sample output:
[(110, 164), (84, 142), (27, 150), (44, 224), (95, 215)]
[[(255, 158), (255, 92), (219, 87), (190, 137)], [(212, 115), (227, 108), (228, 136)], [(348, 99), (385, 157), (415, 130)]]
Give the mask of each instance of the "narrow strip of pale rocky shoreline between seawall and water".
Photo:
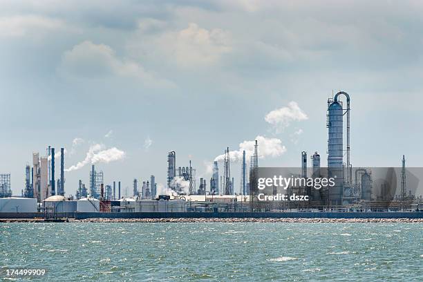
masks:
[[(0, 218), (0, 223), (48, 223), (44, 218)], [(423, 218), (64, 218), (61, 223), (423, 223)]]

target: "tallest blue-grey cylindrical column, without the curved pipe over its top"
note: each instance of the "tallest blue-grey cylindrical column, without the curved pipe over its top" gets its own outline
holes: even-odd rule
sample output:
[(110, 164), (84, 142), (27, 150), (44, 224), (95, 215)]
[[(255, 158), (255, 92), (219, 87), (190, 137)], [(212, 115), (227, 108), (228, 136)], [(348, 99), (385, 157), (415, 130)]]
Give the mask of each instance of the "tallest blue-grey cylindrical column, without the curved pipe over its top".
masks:
[(335, 186), (330, 187), (329, 200), (332, 205), (340, 205), (344, 191), (343, 151), (342, 151), (342, 105), (330, 102), (328, 106), (328, 172), (335, 178)]

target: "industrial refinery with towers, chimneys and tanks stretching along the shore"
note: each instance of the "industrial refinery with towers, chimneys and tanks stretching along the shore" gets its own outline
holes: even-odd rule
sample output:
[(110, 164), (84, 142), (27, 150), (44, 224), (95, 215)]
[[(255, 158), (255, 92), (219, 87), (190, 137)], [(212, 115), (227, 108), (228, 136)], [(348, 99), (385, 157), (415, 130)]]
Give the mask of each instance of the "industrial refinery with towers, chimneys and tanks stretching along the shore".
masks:
[[(345, 102), (341, 101), (345, 98)], [(122, 191), (121, 180), (106, 181), (104, 172), (95, 164), (89, 175), (77, 183), (66, 183), (65, 149), (59, 153), (48, 146), (46, 155), (32, 153), (32, 166), (25, 167), (24, 186), (20, 196), (12, 196), (10, 173), (0, 174), (0, 212), (41, 213), (44, 216), (64, 214), (72, 216), (81, 212), (269, 212), (286, 210), (351, 210), (351, 211), (400, 211), (419, 209), (422, 196), (408, 189), (406, 158), (402, 156), (399, 176), (400, 189), (396, 182), (379, 183), (378, 170), (353, 167), (350, 147), (350, 95), (344, 91), (336, 93), (327, 101), (328, 166), (321, 167), (321, 155), (314, 150), (308, 167), (307, 150), (301, 151), (301, 165), (296, 172), (304, 179), (327, 176), (334, 179), (330, 189), (310, 189), (305, 185), (288, 187), (288, 193), (307, 196), (306, 202), (259, 203), (256, 197), (260, 144), (255, 140), (254, 151), (242, 152), (241, 173), (235, 179), (231, 169), (231, 151), (226, 147), (223, 162), (212, 162), (209, 179), (196, 177), (196, 168), (191, 160), (185, 164), (177, 162), (176, 151), (167, 153), (166, 187), (160, 189), (156, 177), (134, 177), (132, 188)], [(346, 128), (346, 134), (344, 134)], [(345, 141), (344, 141), (345, 137)], [(312, 149), (312, 148), (310, 148)], [(359, 150), (357, 148), (357, 150)], [(59, 166), (57, 166), (59, 162)], [(59, 174), (56, 175), (56, 167)], [(290, 172), (291, 173), (291, 172)], [(382, 171), (386, 175), (386, 171)], [(389, 176), (395, 170), (388, 170)], [(380, 172), (379, 172), (380, 174)], [(392, 178), (392, 177), (391, 177)], [(238, 182), (239, 181), (239, 182)], [(394, 180), (393, 180), (394, 181)], [(395, 178), (396, 181), (396, 178)], [(235, 182), (239, 186), (235, 189)], [(65, 185), (66, 184), (66, 185)], [(283, 191), (282, 191), (283, 192)], [(65, 196), (66, 193), (66, 196)], [(272, 189), (274, 195), (281, 193)]]

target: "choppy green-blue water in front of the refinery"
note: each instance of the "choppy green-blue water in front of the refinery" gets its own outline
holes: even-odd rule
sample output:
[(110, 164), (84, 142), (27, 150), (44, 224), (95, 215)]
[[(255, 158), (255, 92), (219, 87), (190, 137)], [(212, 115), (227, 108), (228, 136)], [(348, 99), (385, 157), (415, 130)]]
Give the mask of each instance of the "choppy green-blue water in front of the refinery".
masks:
[(418, 223), (3, 223), (43, 281), (423, 281)]

